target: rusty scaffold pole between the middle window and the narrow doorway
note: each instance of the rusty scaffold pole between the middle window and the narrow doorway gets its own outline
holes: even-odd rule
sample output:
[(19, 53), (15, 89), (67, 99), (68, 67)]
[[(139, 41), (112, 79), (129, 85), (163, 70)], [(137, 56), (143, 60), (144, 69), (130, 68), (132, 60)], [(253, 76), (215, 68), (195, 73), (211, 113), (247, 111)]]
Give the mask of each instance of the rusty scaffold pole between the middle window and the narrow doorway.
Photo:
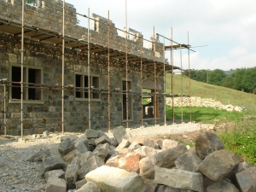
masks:
[(111, 114), (110, 114), (110, 47), (109, 47), (109, 36), (110, 36), (110, 22), (109, 22), (109, 10), (108, 10), (108, 131), (110, 131), (110, 120), (111, 120)]

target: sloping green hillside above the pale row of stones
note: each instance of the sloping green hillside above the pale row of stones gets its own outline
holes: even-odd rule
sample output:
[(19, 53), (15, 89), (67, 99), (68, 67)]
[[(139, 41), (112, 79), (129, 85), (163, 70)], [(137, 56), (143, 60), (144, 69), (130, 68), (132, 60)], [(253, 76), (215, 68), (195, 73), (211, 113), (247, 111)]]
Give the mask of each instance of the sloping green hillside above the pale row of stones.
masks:
[[(183, 84), (183, 86), (181, 86)], [(190, 94), (189, 94), (190, 84)], [(166, 93), (172, 92), (172, 74), (166, 74)], [(195, 81), (186, 76), (173, 76), (173, 94), (212, 98), (223, 104), (231, 104), (247, 109), (247, 113), (256, 114), (256, 95), (229, 88)]]

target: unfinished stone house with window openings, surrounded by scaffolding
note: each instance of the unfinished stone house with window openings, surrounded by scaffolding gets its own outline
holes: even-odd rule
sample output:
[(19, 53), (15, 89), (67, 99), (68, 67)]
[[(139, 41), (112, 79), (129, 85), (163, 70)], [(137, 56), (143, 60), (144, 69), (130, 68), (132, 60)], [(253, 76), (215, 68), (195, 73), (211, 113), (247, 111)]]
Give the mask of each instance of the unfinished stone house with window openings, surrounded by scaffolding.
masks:
[(88, 30), (73, 5), (64, 16), (62, 7), (47, 0), (22, 11), (21, 0), (0, 0), (0, 134), (163, 124), (173, 69), (164, 44), (99, 15), (84, 15)]

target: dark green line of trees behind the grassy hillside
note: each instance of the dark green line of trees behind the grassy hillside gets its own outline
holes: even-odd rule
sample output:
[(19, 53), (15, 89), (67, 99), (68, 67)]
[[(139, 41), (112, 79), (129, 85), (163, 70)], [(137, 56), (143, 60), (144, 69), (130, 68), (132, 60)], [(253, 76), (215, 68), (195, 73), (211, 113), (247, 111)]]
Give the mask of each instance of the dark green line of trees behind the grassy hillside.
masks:
[[(237, 68), (235, 73), (227, 74), (221, 69), (190, 70), (190, 78), (207, 84), (215, 84), (234, 90), (256, 93), (256, 67)], [(183, 72), (189, 77), (189, 71)]]

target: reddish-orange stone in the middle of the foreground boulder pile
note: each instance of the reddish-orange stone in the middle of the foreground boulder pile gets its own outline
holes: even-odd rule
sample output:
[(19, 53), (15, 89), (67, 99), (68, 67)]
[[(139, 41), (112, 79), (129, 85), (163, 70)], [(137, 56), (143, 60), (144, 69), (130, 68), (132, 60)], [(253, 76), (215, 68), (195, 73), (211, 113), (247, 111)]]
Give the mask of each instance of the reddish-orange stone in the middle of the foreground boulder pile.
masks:
[(128, 172), (139, 172), (140, 159), (140, 154), (118, 154), (116, 156), (113, 156), (113, 158), (110, 158), (106, 162), (106, 166), (119, 167), (120, 169), (125, 169)]

